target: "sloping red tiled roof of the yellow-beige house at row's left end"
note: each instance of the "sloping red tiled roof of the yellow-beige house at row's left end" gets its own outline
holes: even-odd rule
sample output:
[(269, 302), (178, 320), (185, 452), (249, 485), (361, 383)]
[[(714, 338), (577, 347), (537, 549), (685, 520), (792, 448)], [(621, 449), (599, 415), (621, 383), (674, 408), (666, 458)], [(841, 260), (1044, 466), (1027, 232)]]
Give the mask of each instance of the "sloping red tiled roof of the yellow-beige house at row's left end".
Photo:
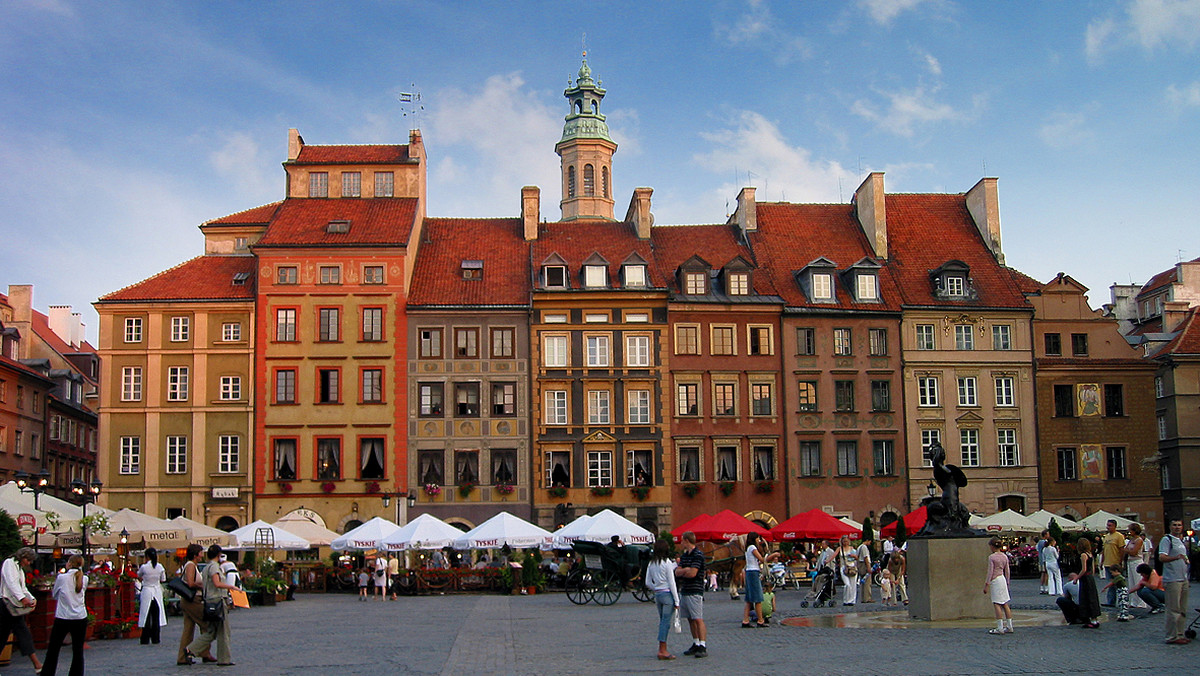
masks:
[[(102, 295), (98, 303), (143, 300), (253, 300), (257, 262), (252, 256), (200, 256), (157, 275)], [(234, 285), (238, 273), (250, 276)]]

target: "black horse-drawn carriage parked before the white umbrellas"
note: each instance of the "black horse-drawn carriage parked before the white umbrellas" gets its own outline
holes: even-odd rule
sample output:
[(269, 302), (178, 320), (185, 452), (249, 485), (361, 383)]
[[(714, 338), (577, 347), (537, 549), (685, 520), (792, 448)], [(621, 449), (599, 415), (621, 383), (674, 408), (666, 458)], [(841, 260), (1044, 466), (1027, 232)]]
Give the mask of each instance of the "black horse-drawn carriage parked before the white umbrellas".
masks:
[(600, 605), (612, 605), (625, 588), (641, 602), (654, 599), (646, 588), (646, 566), (650, 562), (650, 548), (625, 545), (611, 548), (601, 543), (576, 540), (576, 564), (566, 576), (566, 598), (576, 605), (590, 600)]

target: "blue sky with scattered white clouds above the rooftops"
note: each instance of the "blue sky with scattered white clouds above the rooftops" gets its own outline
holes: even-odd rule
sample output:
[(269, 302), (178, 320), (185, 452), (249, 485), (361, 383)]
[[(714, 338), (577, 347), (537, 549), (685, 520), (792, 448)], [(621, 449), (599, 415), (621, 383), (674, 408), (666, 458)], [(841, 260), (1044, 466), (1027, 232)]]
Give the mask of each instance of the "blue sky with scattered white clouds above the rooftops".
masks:
[[(0, 292), (73, 305), (283, 197), (287, 131), (428, 154), (430, 216), (556, 220), (583, 49), (616, 211), (847, 203), (1000, 179), (1009, 265), (1091, 288), (1200, 257), (1200, 0), (0, 2)], [(400, 101), (420, 94), (420, 103)]]

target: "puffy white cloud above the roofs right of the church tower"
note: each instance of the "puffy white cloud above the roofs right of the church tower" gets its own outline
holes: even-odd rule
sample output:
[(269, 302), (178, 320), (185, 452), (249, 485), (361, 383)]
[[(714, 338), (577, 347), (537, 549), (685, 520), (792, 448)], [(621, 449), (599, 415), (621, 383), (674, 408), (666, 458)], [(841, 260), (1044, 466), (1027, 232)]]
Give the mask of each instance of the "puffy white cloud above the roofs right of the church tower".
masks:
[[(845, 195), (858, 185), (853, 172), (838, 162), (814, 158), (810, 150), (788, 143), (774, 122), (752, 110), (738, 112), (730, 126), (701, 137), (712, 148), (694, 155), (694, 161), (718, 175), (750, 172), (760, 201), (838, 202), (844, 197), (839, 179)], [(713, 215), (721, 213), (719, 204), (740, 187), (737, 181), (716, 187), (694, 214), (701, 222), (712, 222)]]

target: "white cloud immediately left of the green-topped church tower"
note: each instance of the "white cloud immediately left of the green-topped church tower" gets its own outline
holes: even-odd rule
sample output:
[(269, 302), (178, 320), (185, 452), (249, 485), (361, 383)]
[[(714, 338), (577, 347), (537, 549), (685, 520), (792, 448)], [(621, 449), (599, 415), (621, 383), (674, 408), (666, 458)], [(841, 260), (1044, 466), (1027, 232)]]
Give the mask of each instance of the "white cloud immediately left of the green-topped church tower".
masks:
[(516, 216), (521, 186), (538, 185), (542, 214), (557, 219), (551, 208), (562, 197), (559, 167), (547, 149), (562, 137), (566, 103), (551, 108), (550, 96), (509, 73), (487, 78), (478, 91), (446, 89), (426, 98), (430, 214)]

